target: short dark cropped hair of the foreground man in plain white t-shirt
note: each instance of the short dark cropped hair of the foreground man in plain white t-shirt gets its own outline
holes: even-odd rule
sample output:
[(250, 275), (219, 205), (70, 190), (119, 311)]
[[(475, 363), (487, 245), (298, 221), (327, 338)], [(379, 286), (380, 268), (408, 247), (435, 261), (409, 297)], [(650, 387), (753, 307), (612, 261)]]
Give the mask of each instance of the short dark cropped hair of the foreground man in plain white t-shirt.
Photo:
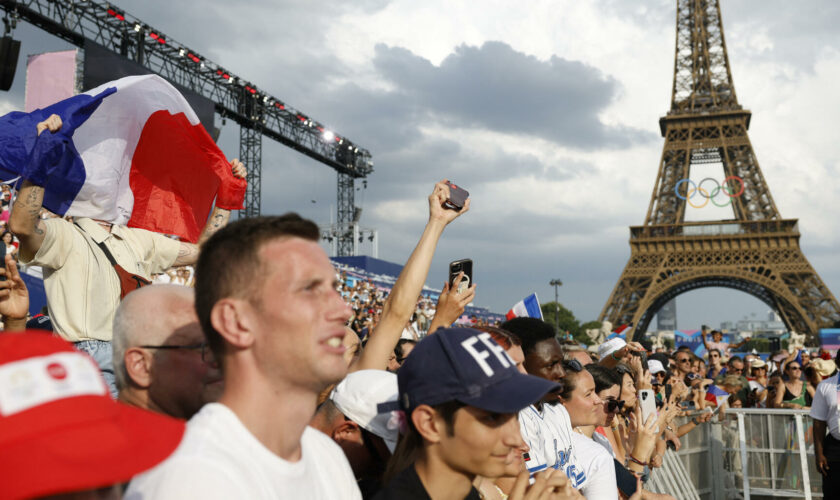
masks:
[(195, 309), (207, 344), (222, 363), (224, 342), (210, 322), (216, 302), (227, 297), (253, 301), (265, 263), (259, 252), (263, 245), (280, 238), (318, 241), (318, 226), (295, 213), (241, 219), (208, 239), (201, 247), (195, 268)]

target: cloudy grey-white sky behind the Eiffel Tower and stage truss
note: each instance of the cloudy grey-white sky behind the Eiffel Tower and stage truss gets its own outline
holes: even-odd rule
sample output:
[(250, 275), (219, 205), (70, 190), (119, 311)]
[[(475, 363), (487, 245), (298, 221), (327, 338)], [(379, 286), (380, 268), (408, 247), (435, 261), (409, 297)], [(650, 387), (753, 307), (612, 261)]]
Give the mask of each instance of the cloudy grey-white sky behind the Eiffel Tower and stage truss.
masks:
[[(356, 192), (379, 255), (404, 262), (425, 197), (447, 177), (472, 210), (444, 235), (429, 284), (470, 257), (476, 304), (506, 311), (536, 291), (597, 318), (641, 224), (663, 139), (674, 61), (674, 0), (116, 1), (209, 59), (369, 149)], [(723, 19), (750, 138), (783, 217), (799, 218), (811, 264), (840, 293), (840, 4), (726, 0)], [(28, 25), (22, 55), (68, 45)], [(25, 57), (21, 57), (21, 68)], [(0, 112), (23, 107), (23, 70)], [(228, 122), (220, 145), (238, 154)], [(692, 178), (722, 174), (692, 172)], [(264, 141), (263, 213), (328, 223), (335, 173)], [(697, 210), (693, 220), (725, 214)], [(334, 216), (333, 216), (334, 217)], [(677, 299), (680, 328), (766, 315), (746, 294)]]

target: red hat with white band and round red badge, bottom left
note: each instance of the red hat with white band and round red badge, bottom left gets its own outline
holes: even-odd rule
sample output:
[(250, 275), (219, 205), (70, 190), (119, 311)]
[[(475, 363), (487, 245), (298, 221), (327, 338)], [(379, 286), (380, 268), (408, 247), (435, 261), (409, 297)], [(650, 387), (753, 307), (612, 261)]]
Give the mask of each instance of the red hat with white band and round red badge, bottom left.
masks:
[(175, 451), (184, 428), (113, 401), (96, 363), (69, 343), (0, 335), (0, 498), (126, 482)]

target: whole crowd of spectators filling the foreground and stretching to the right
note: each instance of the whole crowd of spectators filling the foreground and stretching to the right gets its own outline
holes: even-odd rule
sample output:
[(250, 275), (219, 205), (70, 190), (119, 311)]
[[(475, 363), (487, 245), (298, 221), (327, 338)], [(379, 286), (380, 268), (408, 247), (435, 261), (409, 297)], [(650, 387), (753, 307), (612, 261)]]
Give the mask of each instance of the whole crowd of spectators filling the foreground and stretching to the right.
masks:
[[(38, 132), (60, 128), (53, 116)], [(7, 254), (0, 498), (670, 498), (646, 482), (713, 408), (805, 407), (817, 379), (803, 365), (833, 371), (803, 353), (762, 371), (728, 346), (703, 360), (621, 338), (593, 356), (537, 318), (453, 328), (476, 284), (421, 297), (444, 229), (470, 208), (446, 207), (445, 181), (387, 294), (338, 274), (312, 221), (227, 224), (243, 195), (221, 186), (192, 245), (42, 219), (43, 187), (24, 180), (9, 226), (20, 262), (44, 268), (54, 332), (26, 330)], [(836, 407), (820, 410), (832, 433)]]

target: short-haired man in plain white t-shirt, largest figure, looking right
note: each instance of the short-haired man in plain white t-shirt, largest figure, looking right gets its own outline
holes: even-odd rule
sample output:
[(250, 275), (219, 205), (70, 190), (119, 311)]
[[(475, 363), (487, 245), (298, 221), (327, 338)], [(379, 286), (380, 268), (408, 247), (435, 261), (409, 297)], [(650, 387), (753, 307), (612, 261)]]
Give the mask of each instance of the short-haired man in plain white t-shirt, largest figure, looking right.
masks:
[(318, 394), (347, 373), (351, 314), (318, 237), (286, 214), (237, 221), (205, 243), (196, 311), (225, 389), (127, 499), (361, 498), (341, 448), (307, 427)]

